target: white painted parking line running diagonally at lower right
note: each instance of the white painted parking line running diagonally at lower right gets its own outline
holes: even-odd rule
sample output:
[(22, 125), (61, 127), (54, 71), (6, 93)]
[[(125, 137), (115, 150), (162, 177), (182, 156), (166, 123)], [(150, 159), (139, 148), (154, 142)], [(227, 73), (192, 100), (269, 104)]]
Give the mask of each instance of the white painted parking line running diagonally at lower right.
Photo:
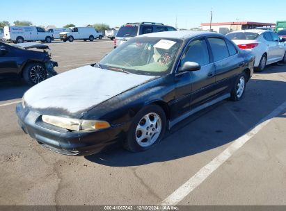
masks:
[(177, 205), (180, 203), (187, 195), (189, 195), (193, 189), (198, 187), (205, 179), (209, 177), (212, 172), (218, 169), (221, 164), (223, 164), (231, 155), (233, 155), (241, 146), (244, 146), (248, 140), (257, 134), (264, 126), (266, 126), (273, 117), (276, 117), (286, 108), (286, 101), (281, 104), (278, 108), (273, 110), (267, 117), (264, 117), (260, 122), (258, 122), (251, 130), (248, 131), (245, 135), (242, 135), (237, 140), (235, 140), (230, 146), (228, 146), (225, 151), (219, 154), (214, 160), (209, 162), (202, 167), (194, 176), (186, 181), (181, 187), (175, 190), (173, 194), (170, 194), (164, 201), (161, 202), (161, 205)]

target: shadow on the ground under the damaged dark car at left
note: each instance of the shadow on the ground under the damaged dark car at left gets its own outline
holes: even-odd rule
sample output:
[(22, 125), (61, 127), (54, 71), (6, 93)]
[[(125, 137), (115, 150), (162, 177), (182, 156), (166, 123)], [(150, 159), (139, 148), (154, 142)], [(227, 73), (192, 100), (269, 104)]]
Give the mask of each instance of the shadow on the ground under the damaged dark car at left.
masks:
[(0, 82), (0, 101), (20, 99), (31, 86), (22, 80), (1, 81)]

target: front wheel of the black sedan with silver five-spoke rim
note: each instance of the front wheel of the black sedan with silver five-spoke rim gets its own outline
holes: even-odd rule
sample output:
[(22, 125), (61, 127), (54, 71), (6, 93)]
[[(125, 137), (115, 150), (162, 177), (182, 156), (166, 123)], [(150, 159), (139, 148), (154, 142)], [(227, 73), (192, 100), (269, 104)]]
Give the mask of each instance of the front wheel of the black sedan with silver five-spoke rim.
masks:
[(158, 144), (166, 131), (166, 114), (159, 105), (148, 105), (137, 113), (129, 128), (125, 149), (145, 151)]

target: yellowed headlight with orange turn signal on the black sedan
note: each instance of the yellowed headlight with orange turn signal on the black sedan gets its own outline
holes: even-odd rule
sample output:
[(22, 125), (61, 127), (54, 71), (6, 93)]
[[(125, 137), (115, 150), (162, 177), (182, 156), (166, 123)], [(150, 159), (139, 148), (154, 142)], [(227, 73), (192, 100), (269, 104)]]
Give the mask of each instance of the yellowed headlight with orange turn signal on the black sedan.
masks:
[(42, 121), (47, 124), (74, 131), (93, 131), (110, 127), (110, 124), (107, 121), (70, 119), (48, 115), (42, 115)]

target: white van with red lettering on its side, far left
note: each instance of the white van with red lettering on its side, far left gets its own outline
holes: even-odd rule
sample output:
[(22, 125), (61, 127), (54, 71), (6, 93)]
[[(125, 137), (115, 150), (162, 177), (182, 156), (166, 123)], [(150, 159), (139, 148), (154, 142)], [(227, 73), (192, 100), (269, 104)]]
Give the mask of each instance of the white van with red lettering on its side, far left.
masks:
[(52, 33), (38, 26), (5, 26), (3, 40), (6, 42), (23, 43), (24, 41), (51, 42)]

